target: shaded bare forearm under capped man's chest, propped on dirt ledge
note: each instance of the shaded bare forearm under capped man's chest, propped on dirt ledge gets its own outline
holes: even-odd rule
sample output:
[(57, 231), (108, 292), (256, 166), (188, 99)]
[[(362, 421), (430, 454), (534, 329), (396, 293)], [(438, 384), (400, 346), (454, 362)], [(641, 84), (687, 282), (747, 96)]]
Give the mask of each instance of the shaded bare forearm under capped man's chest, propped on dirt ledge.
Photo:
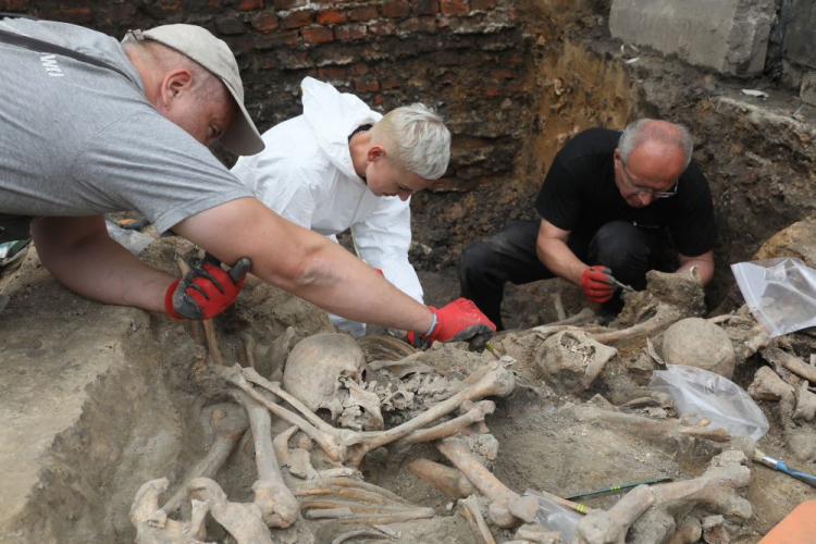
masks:
[(38, 219), (32, 237), (42, 264), (70, 289), (101, 302), (164, 311), (164, 293), (175, 277), (111, 239), (102, 215)]

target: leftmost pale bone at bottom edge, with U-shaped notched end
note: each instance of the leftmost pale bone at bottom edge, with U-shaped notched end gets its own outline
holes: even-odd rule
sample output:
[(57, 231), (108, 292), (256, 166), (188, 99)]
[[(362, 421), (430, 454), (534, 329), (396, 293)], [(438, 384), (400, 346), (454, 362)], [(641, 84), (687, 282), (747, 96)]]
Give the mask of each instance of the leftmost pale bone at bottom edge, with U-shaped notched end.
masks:
[(131, 523), (136, 528), (136, 544), (205, 544), (196, 539), (203, 528), (209, 505), (193, 502), (189, 521), (176, 521), (159, 508), (159, 497), (168, 490), (166, 478), (150, 480), (136, 492), (131, 506)]

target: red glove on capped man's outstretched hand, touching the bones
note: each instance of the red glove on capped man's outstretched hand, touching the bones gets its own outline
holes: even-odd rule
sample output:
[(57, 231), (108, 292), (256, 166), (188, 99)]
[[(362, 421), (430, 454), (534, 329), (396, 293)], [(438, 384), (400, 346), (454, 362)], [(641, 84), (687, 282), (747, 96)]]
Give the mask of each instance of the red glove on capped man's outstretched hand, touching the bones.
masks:
[(428, 332), (408, 333), (408, 343), (415, 347), (429, 342), (470, 342), (471, 350), (481, 351), (496, 332), (496, 325), (467, 298), (457, 298), (440, 309), (428, 308), (433, 312), (433, 323)]

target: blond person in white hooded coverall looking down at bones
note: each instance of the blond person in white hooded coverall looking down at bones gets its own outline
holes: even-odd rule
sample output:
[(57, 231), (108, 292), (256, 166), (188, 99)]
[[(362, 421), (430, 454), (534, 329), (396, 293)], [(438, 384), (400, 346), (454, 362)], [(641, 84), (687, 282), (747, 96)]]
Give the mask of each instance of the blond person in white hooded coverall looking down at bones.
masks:
[[(283, 218), (332, 237), (351, 228), (360, 259), (422, 302), (408, 262), (410, 197), (447, 170), (450, 133), (420, 103), (385, 116), (354, 95), (307, 77), (304, 113), (263, 134), (265, 149), (232, 172)], [(332, 316), (355, 336), (364, 323)]]

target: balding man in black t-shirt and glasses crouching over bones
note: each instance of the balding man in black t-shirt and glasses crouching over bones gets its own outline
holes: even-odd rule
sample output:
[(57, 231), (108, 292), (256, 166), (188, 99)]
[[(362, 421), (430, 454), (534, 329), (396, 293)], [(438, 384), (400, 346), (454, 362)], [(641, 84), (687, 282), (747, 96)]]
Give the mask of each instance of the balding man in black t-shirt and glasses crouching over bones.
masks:
[(564, 277), (609, 312), (622, 307), (615, 280), (640, 290), (650, 270), (696, 265), (707, 284), (717, 232), (691, 152), (689, 132), (666, 121), (578, 134), (547, 172), (535, 201), (541, 220), (515, 221), (465, 249), (462, 296), (502, 330), (506, 282)]

